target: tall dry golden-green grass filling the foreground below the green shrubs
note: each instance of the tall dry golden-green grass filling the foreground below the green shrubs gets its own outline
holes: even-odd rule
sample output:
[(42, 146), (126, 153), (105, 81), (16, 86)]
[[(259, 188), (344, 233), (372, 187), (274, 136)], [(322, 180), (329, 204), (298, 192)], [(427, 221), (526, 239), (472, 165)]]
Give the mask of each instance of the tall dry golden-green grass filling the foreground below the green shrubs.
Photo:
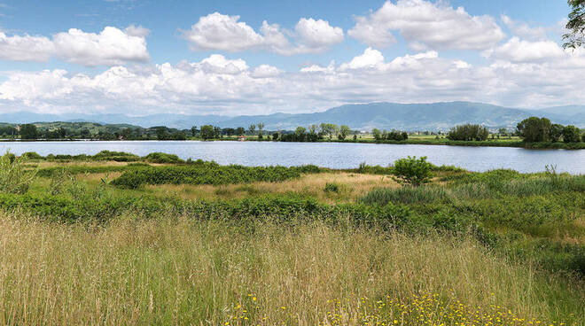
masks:
[[(90, 227), (2, 214), (0, 323), (363, 324), (351, 316), (378, 300), (415, 307), (426, 293), (442, 306), (509, 309), (525, 321), (585, 318), (582, 283), (505, 261), (472, 239), (257, 223), (251, 231), (127, 217)], [(419, 324), (418, 314), (408, 318), (401, 323)]]

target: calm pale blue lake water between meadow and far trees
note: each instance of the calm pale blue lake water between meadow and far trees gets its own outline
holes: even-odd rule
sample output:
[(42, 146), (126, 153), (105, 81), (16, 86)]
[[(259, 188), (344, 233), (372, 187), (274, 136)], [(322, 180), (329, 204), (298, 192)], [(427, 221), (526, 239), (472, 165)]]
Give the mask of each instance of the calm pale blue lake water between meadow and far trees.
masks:
[(426, 156), (436, 165), (454, 165), (472, 171), (512, 168), (520, 172), (543, 171), (556, 165), (559, 172), (585, 174), (585, 150), (526, 150), (508, 147), (462, 147), (438, 145), (114, 141), (114, 142), (0, 142), (0, 152), (21, 154), (96, 154), (127, 151), (144, 156), (152, 151), (176, 154), (182, 159), (214, 160), (222, 165), (299, 166), (350, 168), (361, 162), (387, 166), (406, 156)]

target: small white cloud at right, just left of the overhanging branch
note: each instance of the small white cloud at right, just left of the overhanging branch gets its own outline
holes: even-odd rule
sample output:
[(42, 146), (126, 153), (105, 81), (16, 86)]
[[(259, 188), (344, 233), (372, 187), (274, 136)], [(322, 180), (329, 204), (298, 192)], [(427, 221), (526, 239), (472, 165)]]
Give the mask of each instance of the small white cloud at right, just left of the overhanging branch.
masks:
[(530, 42), (514, 36), (494, 50), (488, 50), (486, 56), (511, 62), (537, 62), (562, 58), (565, 52), (550, 40)]

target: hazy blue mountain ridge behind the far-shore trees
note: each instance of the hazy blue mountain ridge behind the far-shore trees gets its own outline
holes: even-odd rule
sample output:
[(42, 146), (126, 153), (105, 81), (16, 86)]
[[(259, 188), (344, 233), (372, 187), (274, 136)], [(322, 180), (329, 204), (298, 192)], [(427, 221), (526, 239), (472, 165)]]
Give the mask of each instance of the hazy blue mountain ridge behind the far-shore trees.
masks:
[(445, 130), (461, 123), (479, 123), (487, 127), (509, 127), (529, 116), (546, 116), (554, 122), (585, 127), (585, 106), (558, 106), (541, 110), (508, 108), (472, 102), (441, 102), (432, 104), (370, 103), (341, 105), (321, 113), (274, 113), (269, 115), (182, 115), (161, 113), (142, 117), (123, 114), (39, 114), (4, 113), (0, 122), (27, 123), (40, 121), (91, 121), (108, 124), (131, 124), (144, 128), (167, 126), (191, 128), (213, 124), (222, 128), (245, 127), (263, 122), (269, 130), (293, 129), (298, 126), (328, 122), (347, 124), (350, 128), (404, 130)]

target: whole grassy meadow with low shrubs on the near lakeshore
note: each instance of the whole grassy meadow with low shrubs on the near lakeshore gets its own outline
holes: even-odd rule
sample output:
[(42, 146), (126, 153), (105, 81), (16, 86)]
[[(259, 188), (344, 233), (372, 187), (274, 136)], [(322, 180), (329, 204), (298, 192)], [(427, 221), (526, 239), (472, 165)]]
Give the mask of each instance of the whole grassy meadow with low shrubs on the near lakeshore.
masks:
[(1, 324), (585, 324), (585, 175), (0, 165)]

